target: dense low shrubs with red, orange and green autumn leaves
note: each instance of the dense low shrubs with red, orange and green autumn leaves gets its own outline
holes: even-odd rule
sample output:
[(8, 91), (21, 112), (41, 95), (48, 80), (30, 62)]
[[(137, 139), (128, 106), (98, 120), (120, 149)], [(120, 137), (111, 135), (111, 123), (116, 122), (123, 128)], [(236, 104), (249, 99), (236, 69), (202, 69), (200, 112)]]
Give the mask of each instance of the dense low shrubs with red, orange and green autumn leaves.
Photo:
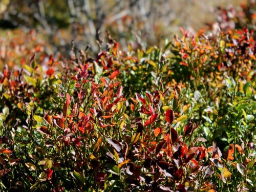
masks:
[(1, 190), (255, 191), (255, 26), (244, 16), (237, 29), (181, 28), (163, 48), (124, 52), (109, 35), (95, 57), (10, 37)]

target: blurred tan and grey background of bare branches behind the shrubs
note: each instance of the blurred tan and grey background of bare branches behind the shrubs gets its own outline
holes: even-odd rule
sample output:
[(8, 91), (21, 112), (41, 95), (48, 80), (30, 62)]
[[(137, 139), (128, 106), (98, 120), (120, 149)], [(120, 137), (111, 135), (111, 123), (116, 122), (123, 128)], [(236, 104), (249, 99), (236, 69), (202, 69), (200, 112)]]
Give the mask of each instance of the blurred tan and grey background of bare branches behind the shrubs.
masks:
[[(180, 33), (212, 28), (217, 21), (229, 28), (239, 10), (254, 0), (1, 0), (0, 43), (16, 35), (36, 34), (37, 45), (46, 53), (68, 54), (71, 40), (75, 49), (96, 53), (98, 43), (106, 41), (109, 31), (125, 50), (161, 46), (166, 39)], [(242, 5), (242, 7), (241, 7)], [(235, 8), (235, 9), (234, 9)], [(255, 8), (255, 7), (254, 7)], [(252, 8), (250, 11), (255, 11)], [(223, 16), (224, 15), (224, 16)], [(100, 33), (99, 33), (100, 31)], [(3, 38), (4, 37), (4, 38)], [(8, 38), (7, 38), (8, 39)], [(29, 41), (29, 39), (27, 39)], [(14, 40), (15, 41), (15, 40)], [(37, 49), (41, 49), (40, 46)], [(3, 51), (2, 51), (3, 52)]]

